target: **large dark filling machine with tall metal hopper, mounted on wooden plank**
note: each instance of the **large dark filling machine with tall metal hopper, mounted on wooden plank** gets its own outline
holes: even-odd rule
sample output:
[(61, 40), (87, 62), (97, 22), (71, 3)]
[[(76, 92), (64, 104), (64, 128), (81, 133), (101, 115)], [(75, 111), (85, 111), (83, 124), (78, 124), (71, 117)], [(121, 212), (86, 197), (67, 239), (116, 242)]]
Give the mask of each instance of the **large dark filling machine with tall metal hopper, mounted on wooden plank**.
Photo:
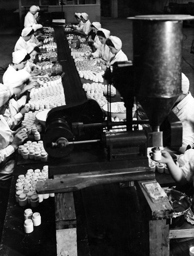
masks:
[[(119, 181), (153, 181), (155, 174), (149, 167), (147, 148), (157, 151), (160, 146), (182, 145), (182, 125), (171, 110), (181, 93), (182, 20), (193, 17), (149, 15), (131, 19), (133, 64), (130, 61), (115, 63), (113, 71), (107, 70), (105, 76), (108, 87), (113, 83), (124, 99), (126, 121), (112, 123), (109, 115), (104, 121), (100, 106), (93, 100), (50, 111), (44, 148), (49, 155), (49, 175), (54, 179), (37, 185), (38, 193), (66, 193)], [(149, 120), (140, 120), (137, 113), (137, 121), (133, 121), (135, 100)], [(142, 131), (133, 130), (133, 124), (139, 123), (147, 125)], [(110, 130), (112, 126), (124, 124), (127, 125), (125, 132), (103, 132), (104, 127)], [(79, 176), (81, 181), (76, 179)], [(151, 205), (153, 202), (144, 196)], [(162, 202), (151, 208), (154, 209), (152, 218), (160, 220), (166, 228), (163, 219), (171, 218), (171, 205)], [(161, 229), (160, 226), (158, 232)], [(150, 251), (154, 251), (155, 246), (153, 240)], [(169, 249), (167, 245), (166, 248)], [(150, 255), (156, 254), (150, 252)], [(168, 253), (163, 250), (163, 254), (157, 255)]]

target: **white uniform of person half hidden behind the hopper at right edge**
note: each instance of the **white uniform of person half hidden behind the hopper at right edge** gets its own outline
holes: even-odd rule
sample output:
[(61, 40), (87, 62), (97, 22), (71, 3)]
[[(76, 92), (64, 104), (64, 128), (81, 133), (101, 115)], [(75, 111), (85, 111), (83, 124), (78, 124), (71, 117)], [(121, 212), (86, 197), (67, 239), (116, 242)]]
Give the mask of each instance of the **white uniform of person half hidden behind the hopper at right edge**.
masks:
[(183, 125), (183, 145), (194, 145), (194, 130), (190, 121), (194, 120), (194, 98), (188, 92), (188, 95), (182, 99), (172, 110), (180, 119)]

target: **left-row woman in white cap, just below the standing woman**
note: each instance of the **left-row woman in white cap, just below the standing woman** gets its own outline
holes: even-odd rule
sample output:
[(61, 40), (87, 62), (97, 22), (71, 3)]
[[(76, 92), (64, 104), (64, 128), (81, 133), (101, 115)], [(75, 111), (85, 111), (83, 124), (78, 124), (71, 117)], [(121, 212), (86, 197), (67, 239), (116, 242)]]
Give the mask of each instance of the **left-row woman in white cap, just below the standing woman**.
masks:
[(21, 32), (21, 36), (17, 40), (15, 44), (14, 51), (18, 51), (21, 49), (26, 49), (28, 46), (28, 42), (34, 34), (34, 30), (32, 27), (24, 28)]

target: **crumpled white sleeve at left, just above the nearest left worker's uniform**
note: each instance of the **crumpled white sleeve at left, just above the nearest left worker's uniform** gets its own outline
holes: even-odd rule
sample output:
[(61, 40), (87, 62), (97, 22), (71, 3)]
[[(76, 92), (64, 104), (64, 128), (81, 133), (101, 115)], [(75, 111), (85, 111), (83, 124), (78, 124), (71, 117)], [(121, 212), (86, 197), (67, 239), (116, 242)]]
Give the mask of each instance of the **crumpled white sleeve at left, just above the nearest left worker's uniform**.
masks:
[(23, 116), (19, 112), (18, 103), (15, 99), (10, 99), (9, 109), (3, 115), (11, 130), (22, 120)]

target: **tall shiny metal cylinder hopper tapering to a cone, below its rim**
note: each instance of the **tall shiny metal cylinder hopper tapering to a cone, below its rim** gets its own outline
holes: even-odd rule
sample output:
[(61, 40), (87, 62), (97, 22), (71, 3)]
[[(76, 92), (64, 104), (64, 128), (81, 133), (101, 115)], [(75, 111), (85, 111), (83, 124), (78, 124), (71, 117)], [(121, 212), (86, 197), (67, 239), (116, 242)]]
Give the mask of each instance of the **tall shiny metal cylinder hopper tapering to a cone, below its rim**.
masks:
[(159, 126), (181, 94), (182, 20), (151, 17), (133, 22), (134, 82), (151, 125)]

